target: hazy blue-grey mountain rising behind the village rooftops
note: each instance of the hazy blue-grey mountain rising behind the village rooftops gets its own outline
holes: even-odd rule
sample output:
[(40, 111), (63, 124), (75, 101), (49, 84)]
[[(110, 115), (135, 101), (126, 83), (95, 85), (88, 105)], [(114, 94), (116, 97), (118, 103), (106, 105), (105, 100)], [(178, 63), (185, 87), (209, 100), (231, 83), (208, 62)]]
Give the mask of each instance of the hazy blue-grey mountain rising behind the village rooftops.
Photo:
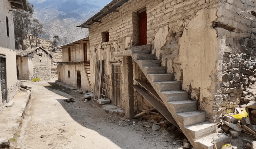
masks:
[(45, 39), (52, 40), (54, 35), (61, 39), (59, 45), (84, 38), (88, 29), (76, 27), (100, 11), (100, 6), (87, 0), (45, 0), (31, 1), (34, 5), (33, 18), (44, 25)]

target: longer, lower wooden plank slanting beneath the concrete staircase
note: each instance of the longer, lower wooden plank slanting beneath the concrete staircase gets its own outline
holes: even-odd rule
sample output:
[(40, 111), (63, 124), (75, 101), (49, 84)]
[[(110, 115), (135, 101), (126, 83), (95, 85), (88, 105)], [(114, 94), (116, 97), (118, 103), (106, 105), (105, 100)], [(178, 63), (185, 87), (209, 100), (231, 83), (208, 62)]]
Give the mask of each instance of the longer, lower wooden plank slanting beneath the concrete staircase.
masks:
[(164, 106), (161, 102), (157, 101), (154, 97), (150, 96), (145, 92), (145, 90), (142, 90), (136, 85), (132, 85), (134, 89), (138, 91), (152, 106), (158, 110), (170, 123), (172, 123), (174, 126), (180, 129), (179, 125), (176, 123), (174, 118), (172, 117), (172, 114), (169, 112), (169, 110)]

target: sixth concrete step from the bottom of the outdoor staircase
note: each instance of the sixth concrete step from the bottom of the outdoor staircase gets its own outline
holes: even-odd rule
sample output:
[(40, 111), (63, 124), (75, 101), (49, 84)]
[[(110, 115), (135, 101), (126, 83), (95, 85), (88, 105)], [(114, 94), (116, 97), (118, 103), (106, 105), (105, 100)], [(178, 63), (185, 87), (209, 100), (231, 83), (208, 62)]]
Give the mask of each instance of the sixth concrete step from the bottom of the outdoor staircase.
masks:
[(180, 89), (180, 82), (177, 81), (154, 82), (153, 85), (156, 86), (155, 90), (159, 92)]

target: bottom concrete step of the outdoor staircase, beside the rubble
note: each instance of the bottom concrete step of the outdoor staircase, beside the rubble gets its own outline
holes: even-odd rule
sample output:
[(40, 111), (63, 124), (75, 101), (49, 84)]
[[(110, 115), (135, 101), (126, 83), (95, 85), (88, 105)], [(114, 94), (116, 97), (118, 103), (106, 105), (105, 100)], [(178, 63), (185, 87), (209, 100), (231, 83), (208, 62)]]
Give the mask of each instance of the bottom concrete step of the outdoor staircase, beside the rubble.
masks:
[(218, 149), (220, 149), (222, 145), (225, 145), (229, 142), (228, 136), (224, 135), (223, 133), (213, 133), (211, 135), (196, 140), (194, 142), (194, 146), (196, 146), (197, 149), (214, 149), (212, 138), (214, 138)]

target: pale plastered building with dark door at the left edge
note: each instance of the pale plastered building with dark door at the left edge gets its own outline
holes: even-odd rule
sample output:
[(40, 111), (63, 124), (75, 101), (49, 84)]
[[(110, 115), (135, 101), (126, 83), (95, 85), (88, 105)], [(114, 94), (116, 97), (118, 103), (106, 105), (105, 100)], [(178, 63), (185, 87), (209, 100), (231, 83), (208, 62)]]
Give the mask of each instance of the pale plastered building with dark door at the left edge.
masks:
[(28, 11), (26, 0), (0, 0), (0, 112), (18, 91), (12, 9)]

